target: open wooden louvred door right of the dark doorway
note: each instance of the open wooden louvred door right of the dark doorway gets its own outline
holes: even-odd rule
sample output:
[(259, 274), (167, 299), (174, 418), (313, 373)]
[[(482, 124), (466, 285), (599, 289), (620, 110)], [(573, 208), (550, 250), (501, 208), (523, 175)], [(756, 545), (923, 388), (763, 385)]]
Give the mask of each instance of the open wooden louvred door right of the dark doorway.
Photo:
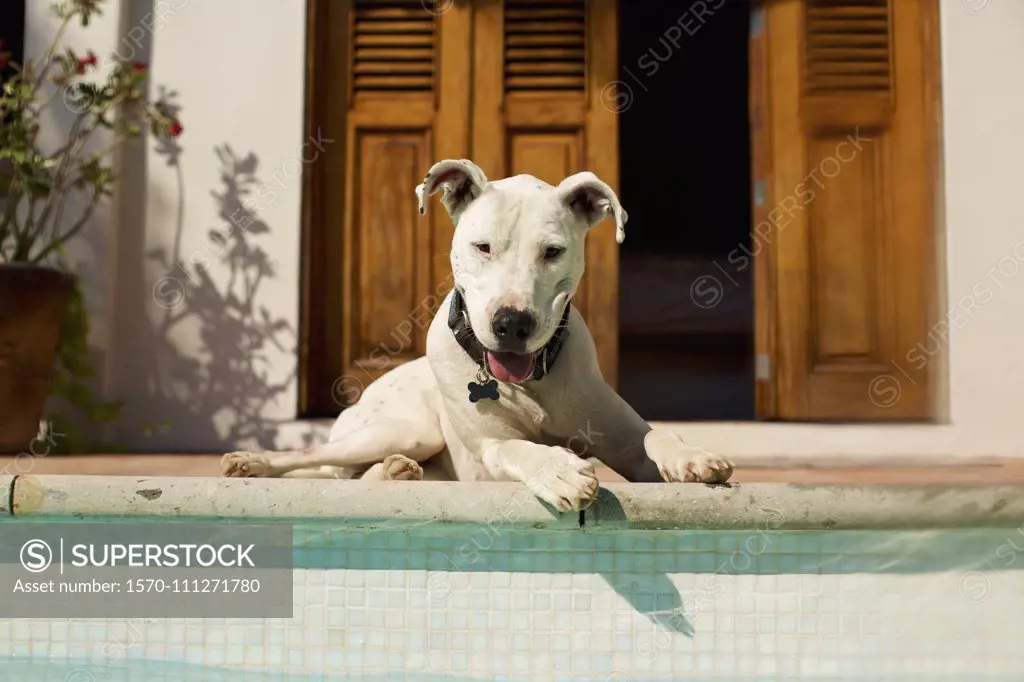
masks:
[(755, 22), (763, 416), (933, 413), (936, 4), (771, 0)]

